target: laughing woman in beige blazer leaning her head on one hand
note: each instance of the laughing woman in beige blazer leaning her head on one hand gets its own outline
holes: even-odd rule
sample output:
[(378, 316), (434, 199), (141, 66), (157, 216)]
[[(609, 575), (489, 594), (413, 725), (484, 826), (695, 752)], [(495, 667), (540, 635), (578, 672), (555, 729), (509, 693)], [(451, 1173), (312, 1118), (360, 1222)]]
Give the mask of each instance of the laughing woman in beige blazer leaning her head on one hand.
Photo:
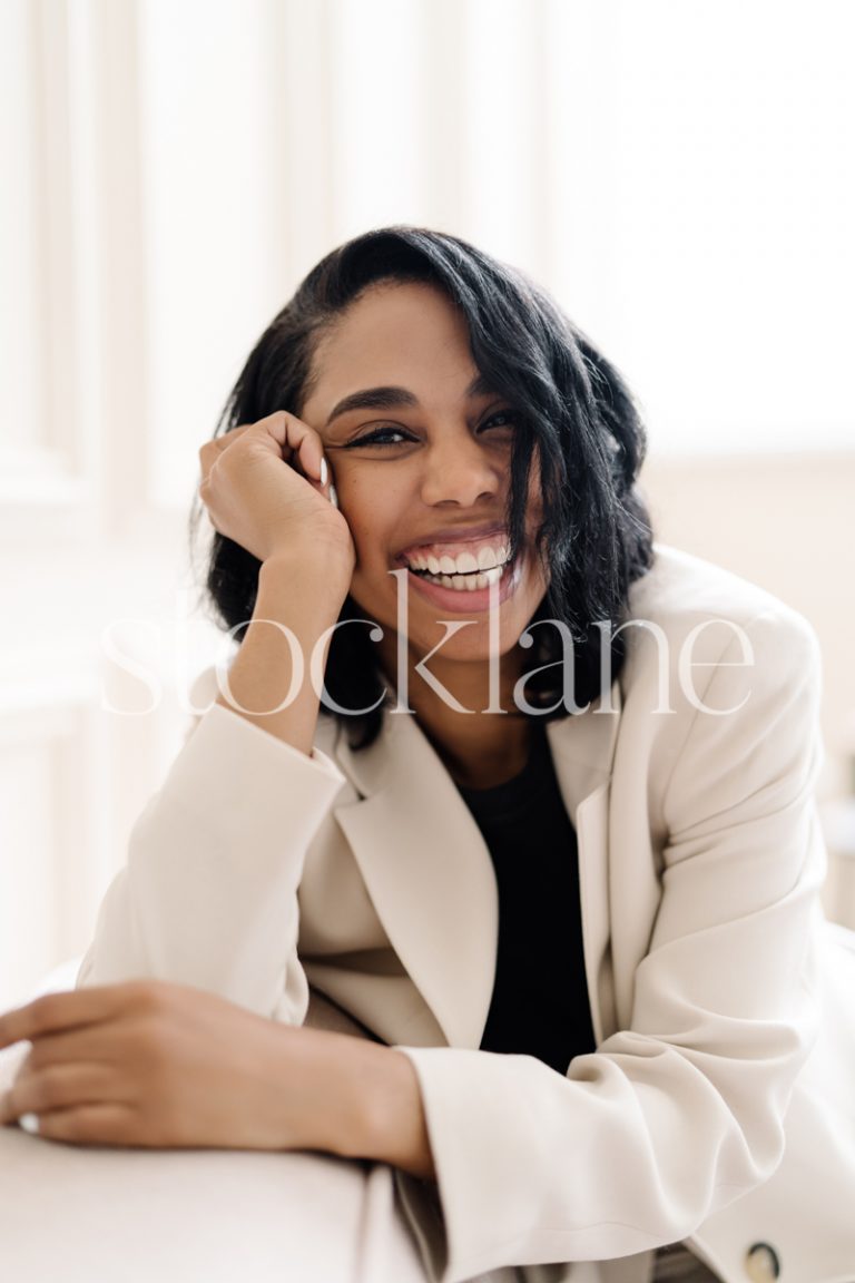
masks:
[(200, 495), (240, 650), (135, 826), (83, 988), (0, 1021), (33, 1042), (5, 1117), (388, 1164), (447, 1283), (847, 1277), (849, 1218), (824, 1273), (799, 1223), (800, 1128), (827, 1215), (855, 1182), (842, 1112), (799, 1094), (804, 621), (654, 556), (622, 380), (451, 236), (324, 259), (222, 427)]

